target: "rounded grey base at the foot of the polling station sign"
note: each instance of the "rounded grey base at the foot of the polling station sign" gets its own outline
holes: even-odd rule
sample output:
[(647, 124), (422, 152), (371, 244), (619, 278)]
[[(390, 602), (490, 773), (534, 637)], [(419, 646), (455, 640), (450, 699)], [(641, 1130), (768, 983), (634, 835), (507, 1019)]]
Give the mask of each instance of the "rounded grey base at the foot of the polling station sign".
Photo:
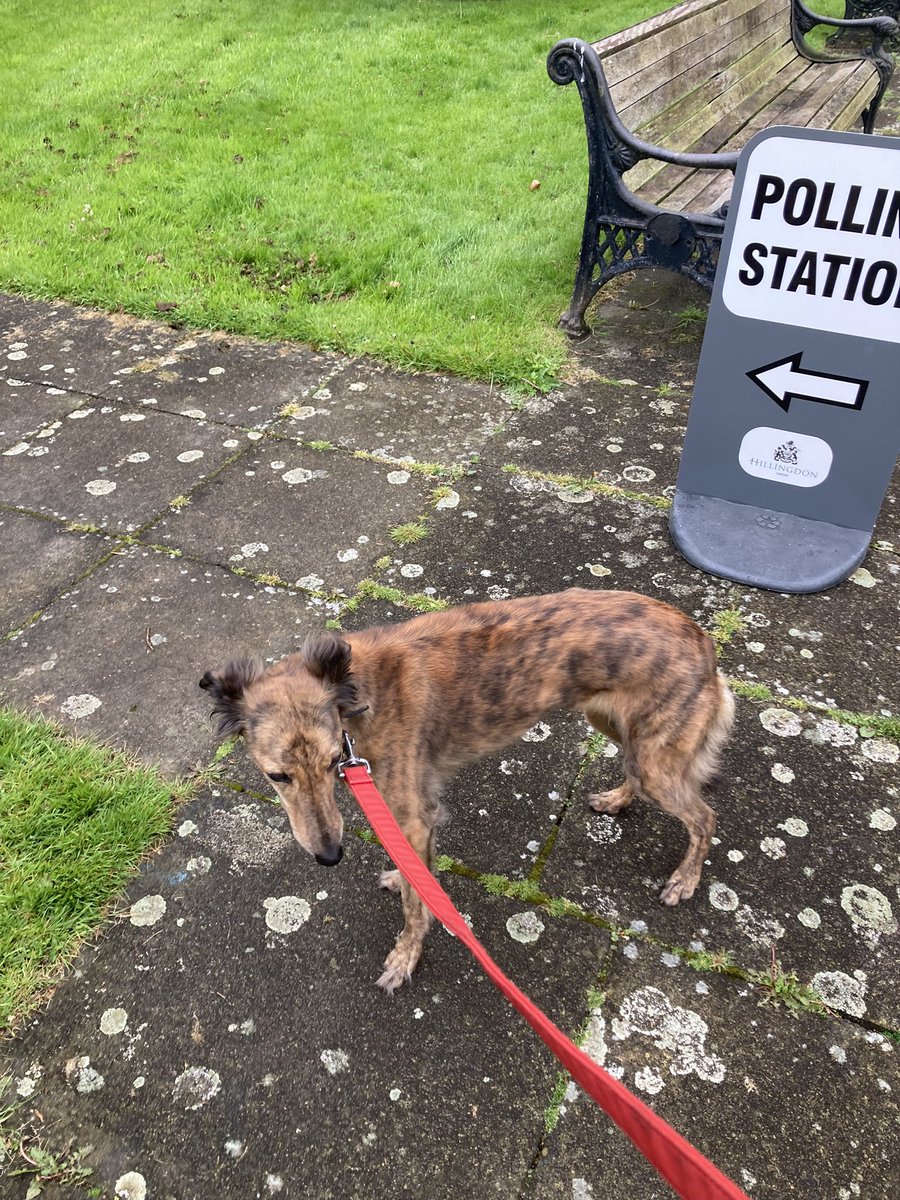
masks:
[(694, 566), (769, 592), (822, 592), (856, 570), (871, 532), (676, 491), (672, 540)]

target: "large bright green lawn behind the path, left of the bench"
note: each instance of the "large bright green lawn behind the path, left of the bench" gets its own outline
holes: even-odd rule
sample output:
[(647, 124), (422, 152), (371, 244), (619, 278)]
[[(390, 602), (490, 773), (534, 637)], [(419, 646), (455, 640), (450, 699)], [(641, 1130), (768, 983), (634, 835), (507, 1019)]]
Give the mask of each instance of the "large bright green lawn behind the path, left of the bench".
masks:
[(0, 0), (0, 289), (547, 386), (587, 154), (546, 54), (661, 7)]

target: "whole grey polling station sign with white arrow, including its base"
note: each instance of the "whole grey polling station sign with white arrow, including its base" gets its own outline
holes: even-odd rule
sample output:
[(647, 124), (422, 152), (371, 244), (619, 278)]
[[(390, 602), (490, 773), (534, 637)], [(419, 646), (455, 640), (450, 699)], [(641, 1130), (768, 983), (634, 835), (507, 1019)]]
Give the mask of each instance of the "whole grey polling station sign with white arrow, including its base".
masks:
[(900, 450), (900, 139), (774, 127), (738, 162), (670, 528), (713, 575), (818, 592)]

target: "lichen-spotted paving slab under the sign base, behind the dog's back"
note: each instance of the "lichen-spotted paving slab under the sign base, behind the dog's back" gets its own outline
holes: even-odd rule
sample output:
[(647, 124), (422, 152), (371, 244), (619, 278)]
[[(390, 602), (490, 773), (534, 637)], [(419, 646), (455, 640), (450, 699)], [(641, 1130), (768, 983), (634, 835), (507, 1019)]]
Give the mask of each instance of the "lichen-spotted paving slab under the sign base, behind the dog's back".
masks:
[[(433, 587), (454, 604), (623, 588), (673, 604), (706, 628), (718, 610), (734, 608), (744, 628), (724, 648), (727, 672), (833, 707), (900, 707), (900, 557), (893, 552), (872, 551), (868, 575), (830, 592), (784, 596), (695, 570), (671, 542), (667, 512), (649, 504), (490, 467), (454, 487), (458, 503), (437, 512), (431, 535), (413, 547), (419, 588)], [(396, 574), (394, 564), (386, 578)]]

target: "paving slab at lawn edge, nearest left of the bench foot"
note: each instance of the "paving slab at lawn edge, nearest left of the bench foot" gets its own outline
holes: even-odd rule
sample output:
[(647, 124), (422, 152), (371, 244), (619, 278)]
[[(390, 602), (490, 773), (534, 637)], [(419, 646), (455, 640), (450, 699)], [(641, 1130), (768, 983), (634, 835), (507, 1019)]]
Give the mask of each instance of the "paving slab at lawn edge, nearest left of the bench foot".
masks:
[(352, 359), (278, 431), (304, 442), (450, 463), (480, 451), (508, 416), (503, 394), (488, 384)]

